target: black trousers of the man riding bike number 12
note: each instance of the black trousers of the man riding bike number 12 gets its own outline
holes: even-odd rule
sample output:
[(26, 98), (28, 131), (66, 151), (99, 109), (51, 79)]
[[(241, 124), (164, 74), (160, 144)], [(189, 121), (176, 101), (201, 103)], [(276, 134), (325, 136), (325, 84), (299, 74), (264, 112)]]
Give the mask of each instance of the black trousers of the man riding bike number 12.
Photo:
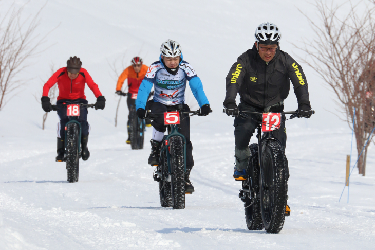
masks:
[[(240, 103), (238, 105), (238, 108), (240, 111), (254, 111), (254, 112), (259, 112), (263, 113), (263, 110), (249, 106), (245, 103)], [(281, 105), (278, 108), (271, 108), (270, 112), (283, 112), (284, 106)], [(236, 117), (234, 118), (234, 124), (233, 126), (235, 127), (234, 129), (234, 141), (236, 148), (243, 150), (246, 147), (249, 146), (250, 139), (253, 136), (255, 129), (258, 127), (259, 122), (262, 121), (263, 117), (261, 115), (256, 115), (256, 114), (249, 114), (249, 117), (252, 118), (242, 118), (242, 117)], [(259, 121), (259, 122), (256, 122)], [(274, 130), (271, 133), (273, 136), (275, 136), (280, 142), (282, 143), (283, 146), (283, 151), (285, 151), (285, 147), (287, 144), (287, 131), (285, 128), (285, 115), (282, 115), (282, 124), (280, 125), (280, 128), (278, 130)]]

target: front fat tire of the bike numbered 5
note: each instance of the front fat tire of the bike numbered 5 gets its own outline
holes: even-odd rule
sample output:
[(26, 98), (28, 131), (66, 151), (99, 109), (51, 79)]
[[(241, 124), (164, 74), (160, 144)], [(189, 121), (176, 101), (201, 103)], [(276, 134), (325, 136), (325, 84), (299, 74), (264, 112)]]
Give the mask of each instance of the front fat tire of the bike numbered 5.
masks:
[(183, 154), (183, 140), (180, 136), (173, 136), (169, 140), (171, 153), (171, 177), (172, 208), (185, 208), (185, 166)]

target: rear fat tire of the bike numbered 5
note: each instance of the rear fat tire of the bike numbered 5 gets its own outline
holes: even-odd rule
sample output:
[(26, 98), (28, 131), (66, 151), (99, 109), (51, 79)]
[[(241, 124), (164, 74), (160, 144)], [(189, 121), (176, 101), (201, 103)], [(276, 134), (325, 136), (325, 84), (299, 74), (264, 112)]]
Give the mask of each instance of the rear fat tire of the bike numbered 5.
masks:
[[(165, 141), (161, 146), (161, 150), (165, 148)], [(159, 197), (160, 205), (162, 207), (171, 207), (172, 206), (172, 193), (171, 193), (171, 182), (166, 181), (166, 176), (168, 174), (168, 162), (166, 158), (166, 151), (162, 153), (162, 157), (159, 163), (159, 170), (163, 173), (163, 178), (159, 181)], [(164, 185), (164, 187), (163, 187)]]

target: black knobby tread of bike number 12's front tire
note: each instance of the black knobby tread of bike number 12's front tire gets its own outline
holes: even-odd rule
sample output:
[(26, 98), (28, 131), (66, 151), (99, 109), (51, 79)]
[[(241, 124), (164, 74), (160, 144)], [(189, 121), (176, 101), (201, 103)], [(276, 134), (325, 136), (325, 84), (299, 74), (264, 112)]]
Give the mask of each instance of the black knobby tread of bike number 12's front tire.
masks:
[(273, 209), (270, 222), (265, 219), (264, 195), (261, 192), (261, 210), (263, 223), (268, 233), (279, 233), (284, 226), (286, 199), (286, 169), (282, 147), (277, 142), (269, 142), (264, 148), (263, 159), (270, 154), (273, 168)]

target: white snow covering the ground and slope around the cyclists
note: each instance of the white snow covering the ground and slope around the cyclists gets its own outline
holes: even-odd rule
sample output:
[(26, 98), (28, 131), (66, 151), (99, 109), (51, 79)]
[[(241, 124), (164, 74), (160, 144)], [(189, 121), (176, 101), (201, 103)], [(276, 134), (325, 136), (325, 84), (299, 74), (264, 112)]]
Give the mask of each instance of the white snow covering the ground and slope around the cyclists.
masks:
[[(316, 115), (287, 121), (291, 216), (277, 235), (246, 228), (240, 183), (232, 177), (233, 119), (221, 113), (224, 78), (236, 57), (252, 46), (256, 25), (266, 20), (282, 30), (282, 49), (298, 55), (291, 42), (312, 34), (297, 8), (311, 16), (314, 9), (304, 1), (279, 3), (49, 1), (39, 32), (60, 23), (43, 45), (52, 47), (31, 59), (20, 77), (33, 79), (0, 111), (0, 249), (373, 249), (373, 146), (366, 177), (354, 169), (349, 203), (347, 189), (339, 203), (351, 132), (327, 111), (335, 109), (334, 96), (307, 66)], [(0, 2), (1, 14), (7, 4)], [(25, 11), (35, 13), (43, 4), (31, 1)], [(118, 97), (109, 64), (124, 55), (128, 64), (137, 53), (150, 64), (168, 38), (181, 43), (214, 110), (191, 119), (196, 191), (186, 195), (184, 210), (160, 207), (154, 169), (146, 164), (151, 130), (144, 150), (125, 144), (124, 100), (114, 127)], [(80, 163), (80, 181), (67, 183), (65, 164), (54, 162), (57, 115), (51, 112), (41, 130), (43, 110), (32, 94), (40, 95), (39, 78), (49, 77), (50, 62), (64, 66), (73, 55), (81, 57), (107, 105), (89, 110), (91, 157)], [(88, 88), (87, 93), (95, 102)], [(198, 108), (191, 94), (187, 101)], [(291, 91), (286, 110), (295, 109)]]

